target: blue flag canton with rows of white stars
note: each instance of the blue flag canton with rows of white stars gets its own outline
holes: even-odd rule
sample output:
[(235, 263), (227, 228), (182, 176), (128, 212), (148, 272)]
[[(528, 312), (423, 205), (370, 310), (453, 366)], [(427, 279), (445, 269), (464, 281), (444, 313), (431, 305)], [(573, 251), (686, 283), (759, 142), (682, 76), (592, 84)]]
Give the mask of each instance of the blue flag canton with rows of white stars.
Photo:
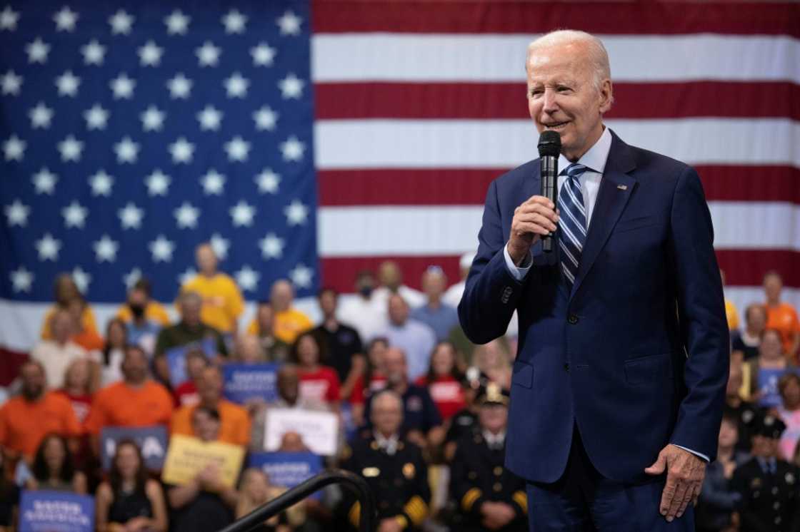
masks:
[(210, 241), (246, 297), (318, 286), (307, 2), (0, 11), (0, 297), (159, 300)]

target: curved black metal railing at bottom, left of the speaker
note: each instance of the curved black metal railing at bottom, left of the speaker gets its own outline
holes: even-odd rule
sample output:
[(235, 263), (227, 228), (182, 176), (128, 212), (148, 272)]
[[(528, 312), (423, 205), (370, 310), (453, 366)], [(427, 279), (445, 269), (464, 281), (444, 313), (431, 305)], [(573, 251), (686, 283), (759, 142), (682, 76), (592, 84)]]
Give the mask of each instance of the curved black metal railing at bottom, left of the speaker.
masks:
[(375, 530), (375, 501), (370, 491), (370, 486), (368, 486), (366, 480), (359, 477), (358, 474), (340, 469), (323, 471), (309, 478), (306, 482), (302, 482), (302, 484), (294, 486), (291, 490), (278, 495), (278, 497), (271, 501), (258, 506), (258, 508), (251, 511), (250, 514), (231, 523), (229, 526), (220, 530), (220, 532), (247, 532), (248, 530), (252, 530), (267, 519), (297, 504), (302, 501), (302, 499), (313, 494), (314, 491), (322, 490), (323, 487), (329, 484), (344, 484), (347, 488), (354, 491), (356, 497), (358, 497), (358, 501), (361, 502), (361, 520), (358, 523), (358, 530), (360, 532), (373, 532), (373, 530)]

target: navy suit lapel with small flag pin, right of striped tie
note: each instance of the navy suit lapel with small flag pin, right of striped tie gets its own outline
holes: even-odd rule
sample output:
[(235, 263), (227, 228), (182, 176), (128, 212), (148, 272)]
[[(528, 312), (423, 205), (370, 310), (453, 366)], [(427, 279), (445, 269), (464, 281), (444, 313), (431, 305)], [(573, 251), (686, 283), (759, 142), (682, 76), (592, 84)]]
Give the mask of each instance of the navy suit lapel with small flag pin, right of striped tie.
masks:
[(636, 179), (628, 173), (636, 168), (636, 163), (630, 148), (612, 131), (611, 149), (606, 161), (598, 190), (597, 201), (589, 224), (589, 233), (586, 235), (586, 244), (581, 253), (581, 262), (578, 265), (578, 275), (572, 286), (570, 298), (574, 297), (581, 287), (582, 281), (589, 273), (594, 260), (597, 259), (606, 240), (617, 224), (619, 216), (633, 193)]

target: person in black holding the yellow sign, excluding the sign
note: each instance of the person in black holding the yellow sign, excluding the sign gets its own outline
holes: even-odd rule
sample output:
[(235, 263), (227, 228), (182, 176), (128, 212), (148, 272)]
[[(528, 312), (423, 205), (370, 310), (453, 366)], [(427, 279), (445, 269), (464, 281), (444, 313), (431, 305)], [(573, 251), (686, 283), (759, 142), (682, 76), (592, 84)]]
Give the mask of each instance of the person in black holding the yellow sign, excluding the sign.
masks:
[[(194, 436), (203, 442), (219, 439), (218, 411), (197, 407), (192, 413)], [(183, 486), (167, 486), (173, 510), (173, 532), (217, 532), (234, 520), (238, 492), (222, 482), (218, 466), (208, 466)]]

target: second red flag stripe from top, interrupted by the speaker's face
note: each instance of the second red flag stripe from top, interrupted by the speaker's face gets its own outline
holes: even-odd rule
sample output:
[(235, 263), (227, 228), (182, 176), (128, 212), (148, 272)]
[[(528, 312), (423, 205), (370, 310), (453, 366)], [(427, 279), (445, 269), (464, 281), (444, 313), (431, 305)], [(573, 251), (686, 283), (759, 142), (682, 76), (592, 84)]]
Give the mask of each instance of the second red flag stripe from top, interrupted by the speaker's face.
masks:
[[(317, 118), (527, 118), (518, 83), (318, 83)], [(800, 121), (800, 85), (694, 81), (616, 83), (609, 118), (789, 117)]]

